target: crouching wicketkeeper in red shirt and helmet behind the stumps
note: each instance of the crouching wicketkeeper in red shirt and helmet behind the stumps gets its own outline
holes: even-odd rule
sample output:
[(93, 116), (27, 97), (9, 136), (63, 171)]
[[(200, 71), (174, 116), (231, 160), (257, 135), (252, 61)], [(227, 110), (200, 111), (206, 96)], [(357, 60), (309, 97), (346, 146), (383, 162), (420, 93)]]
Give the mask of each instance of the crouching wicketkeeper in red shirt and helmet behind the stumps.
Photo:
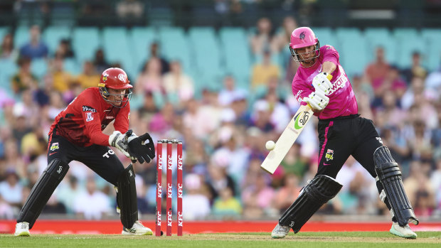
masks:
[[(152, 235), (138, 220), (137, 193), (132, 164), (124, 168), (115, 152), (122, 151), (132, 162), (149, 163), (154, 158), (154, 143), (148, 133), (135, 135), (129, 129), (129, 100), (132, 97), (126, 72), (108, 68), (98, 87), (78, 95), (55, 118), (49, 131), (48, 166), (33, 186), (17, 219), (15, 236), (30, 236), (29, 230), (66, 173), (70, 161), (84, 163), (117, 190), (117, 211), (122, 234)], [(114, 121), (115, 131), (102, 131)]]

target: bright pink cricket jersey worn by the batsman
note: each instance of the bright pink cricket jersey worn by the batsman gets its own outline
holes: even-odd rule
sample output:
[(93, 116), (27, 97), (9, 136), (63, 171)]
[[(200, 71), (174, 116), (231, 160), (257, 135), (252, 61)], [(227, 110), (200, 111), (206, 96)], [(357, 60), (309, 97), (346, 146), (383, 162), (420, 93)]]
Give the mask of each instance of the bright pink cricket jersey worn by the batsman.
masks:
[(324, 45), (320, 48), (320, 55), (315, 65), (310, 68), (299, 67), (292, 80), (292, 94), (300, 104), (306, 104), (303, 102), (303, 98), (314, 92), (312, 79), (322, 72), (322, 65), (325, 61), (331, 61), (336, 64), (337, 68), (332, 72), (331, 92), (326, 95), (329, 97), (329, 104), (322, 112), (314, 115), (319, 119), (331, 119), (357, 114), (358, 105), (351, 82), (339, 63), (339, 53), (332, 45)]

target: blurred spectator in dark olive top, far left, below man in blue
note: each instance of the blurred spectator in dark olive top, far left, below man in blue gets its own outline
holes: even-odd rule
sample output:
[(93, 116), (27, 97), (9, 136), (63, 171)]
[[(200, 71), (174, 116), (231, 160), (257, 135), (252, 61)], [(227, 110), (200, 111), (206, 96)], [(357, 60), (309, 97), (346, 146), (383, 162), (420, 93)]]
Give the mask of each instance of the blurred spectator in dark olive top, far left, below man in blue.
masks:
[(11, 87), (14, 93), (21, 94), (24, 90), (36, 90), (37, 77), (31, 72), (31, 59), (22, 57), (18, 59), (18, 72), (12, 77)]

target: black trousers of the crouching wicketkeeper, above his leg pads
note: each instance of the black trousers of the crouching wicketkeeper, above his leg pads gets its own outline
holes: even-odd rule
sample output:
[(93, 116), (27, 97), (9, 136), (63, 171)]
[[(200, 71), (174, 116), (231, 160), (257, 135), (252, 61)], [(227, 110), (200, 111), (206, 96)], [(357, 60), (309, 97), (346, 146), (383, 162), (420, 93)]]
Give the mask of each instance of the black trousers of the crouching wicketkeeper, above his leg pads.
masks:
[(117, 185), (117, 178), (124, 171), (124, 166), (110, 147), (99, 145), (75, 146), (63, 136), (56, 134), (50, 136), (49, 141), (48, 164), (55, 158), (59, 158), (65, 163), (70, 163), (73, 160), (79, 161), (107, 182)]

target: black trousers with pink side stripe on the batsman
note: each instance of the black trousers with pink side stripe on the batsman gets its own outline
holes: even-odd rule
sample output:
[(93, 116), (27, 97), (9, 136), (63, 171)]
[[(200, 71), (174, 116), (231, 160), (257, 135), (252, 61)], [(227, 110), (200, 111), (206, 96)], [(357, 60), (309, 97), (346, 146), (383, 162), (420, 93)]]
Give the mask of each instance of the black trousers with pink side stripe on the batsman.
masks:
[(319, 120), (319, 168), (317, 175), (336, 178), (349, 156), (376, 178), (373, 152), (383, 146), (370, 119), (349, 117)]

